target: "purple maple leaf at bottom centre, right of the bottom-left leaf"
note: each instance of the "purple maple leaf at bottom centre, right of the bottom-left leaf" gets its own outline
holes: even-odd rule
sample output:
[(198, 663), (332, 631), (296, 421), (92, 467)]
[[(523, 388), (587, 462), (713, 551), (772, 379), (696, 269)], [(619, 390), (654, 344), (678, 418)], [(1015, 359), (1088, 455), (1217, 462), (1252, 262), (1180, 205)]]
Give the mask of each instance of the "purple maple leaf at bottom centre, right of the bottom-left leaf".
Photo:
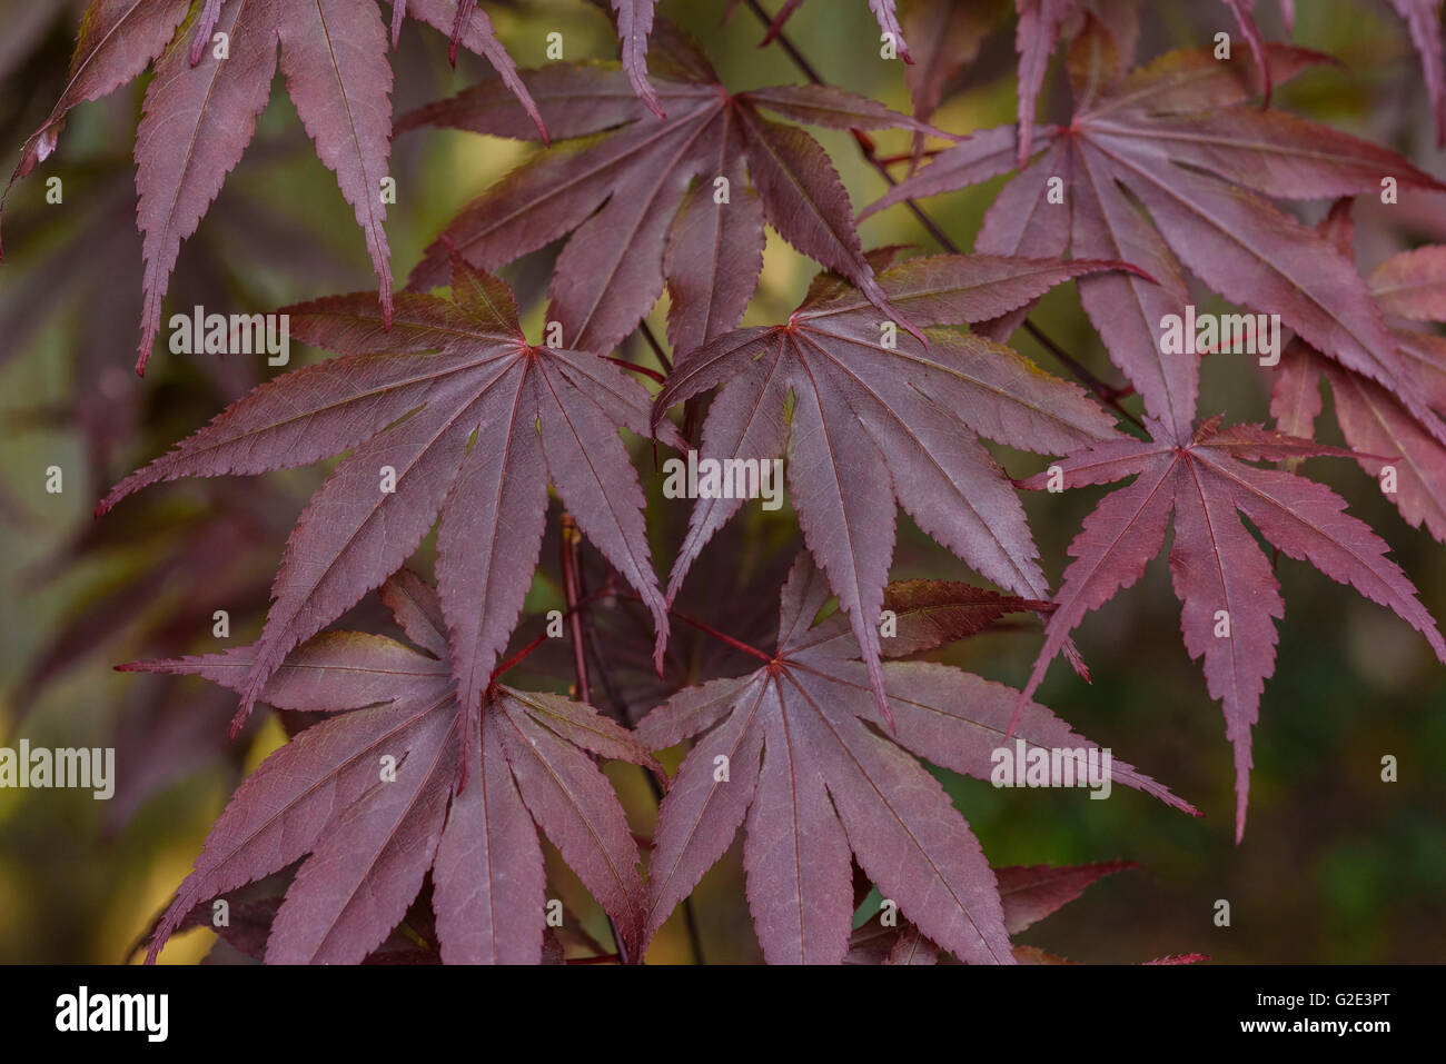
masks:
[[(891, 662), (888, 737), (843, 619), (813, 625), (827, 598), (801, 554), (781, 597), (775, 656), (752, 675), (680, 691), (638, 726), (652, 749), (701, 733), (658, 814), (646, 934), (743, 825), (749, 906), (769, 963), (844, 958), (852, 851), (930, 940), (969, 963), (1008, 964), (995, 875), (915, 756), (988, 779), (1018, 691), (944, 665)], [(1030, 749), (1095, 746), (1043, 705), (1024, 717), (1017, 736)], [(1119, 760), (1113, 779), (1196, 812)]]

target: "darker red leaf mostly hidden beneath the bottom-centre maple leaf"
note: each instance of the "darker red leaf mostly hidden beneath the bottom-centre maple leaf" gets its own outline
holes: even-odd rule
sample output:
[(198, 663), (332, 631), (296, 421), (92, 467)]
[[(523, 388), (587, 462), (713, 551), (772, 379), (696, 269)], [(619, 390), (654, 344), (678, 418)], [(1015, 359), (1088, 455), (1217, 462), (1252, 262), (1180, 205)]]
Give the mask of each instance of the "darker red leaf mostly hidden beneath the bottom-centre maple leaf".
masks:
[[(1112, 860), (1098, 864), (1076, 864), (1056, 867), (1034, 864), (995, 869), (999, 880), (999, 901), (1004, 905), (1004, 922), (1009, 934), (1017, 934), (1044, 919), (1069, 902), (1079, 898), (1084, 888), (1116, 872), (1139, 867), (1134, 862)], [(1015, 945), (1014, 958), (1018, 964), (1073, 964), (1035, 945)], [(920, 934), (907, 919), (898, 919), (891, 927), (884, 925), (882, 914), (856, 928), (849, 938), (849, 954), (844, 964), (949, 964), (953, 958), (940, 954), (934, 943)], [(1209, 960), (1202, 953), (1187, 953), (1178, 957), (1161, 957), (1147, 964), (1194, 964)]]

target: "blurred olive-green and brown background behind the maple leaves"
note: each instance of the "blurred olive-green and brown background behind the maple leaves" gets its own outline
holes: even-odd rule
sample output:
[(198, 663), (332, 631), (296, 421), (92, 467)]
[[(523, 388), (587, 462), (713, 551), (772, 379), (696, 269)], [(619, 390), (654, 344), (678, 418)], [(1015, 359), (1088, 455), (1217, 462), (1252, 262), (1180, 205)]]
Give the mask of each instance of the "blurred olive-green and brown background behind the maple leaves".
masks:
[[(765, 6), (772, 12), (778, 4)], [(554, 30), (564, 35), (570, 59), (615, 56), (612, 27), (583, 0), (487, 0), (484, 7), (521, 65), (544, 61), (545, 36)], [(1233, 33), (1219, 3), (1147, 0), (1144, 7), (1142, 58), (1200, 46), (1216, 30)], [(1259, 7), (1262, 25), (1278, 39), (1274, 3)], [(1340, 65), (1281, 88), (1275, 106), (1365, 136), (1446, 175), (1420, 66), (1391, 9), (1372, 0), (1312, 0), (1297, 7), (1293, 42), (1330, 52)], [(777, 46), (758, 46), (762, 27), (749, 10), (724, 23), (723, 9), (723, 0), (664, 0), (659, 10), (700, 36), (733, 88), (801, 80)], [(0, 0), (0, 145), (17, 149), (58, 97), (80, 12), (77, 3)], [(878, 29), (863, 0), (810, 0), (790, 23), (790, 35), (824, 78), (908, 110), (901, 66), (879, 59)], [(964, 133), (1011, 121), (1014, 58), (1012, 20), (1005, 19), (979, 61), (956, 78), (936, 123)], [(398, 114), (490, 77), (486, 64), (470, 55), (461, 55), (453, 71), (445, 38), (416, 23), (406, 26), (393, 69)], [(1054, 116), (1067, 108), (1060, 81), (1051, 71), (1044, 94)], [(278, 720), (256, 714), (227, 745), (233, 695), (195, 679), (113, 671), (119, 662), (217, 649), (211, 636), (217, 609), (230, 613), (231, 643), (253, 638), (286, 532), (325, 474), (318, 466), (253, 480), (187, 481), (147, 490), (104, 520), (90, 516), (116, 480), (270, 373), (257, 360), (172, 356), (163, 346), (143, 380), (132, 373), (140, 311), (132, 149), (145, 84), (142, 78), (72, 113), (61, 149), (16, 185), (4, 215), (0, 745), (16, 746), (26, 737), (38, 746), (114, 746), (120, 782), (110, 802), (77, 791), (0, 789), (0, 961), (126, 960), (184, 878), (237, 781), (286, 739)], [(849, 134), (816, 134), (856, 207), (882, 194), (879, 175)], [(908, 147), (907, 137), (895, 133), (881, 134), (879, 143), (885, 155)], [(395, 276), (403, 278), (442, 224), (529, 150), (463, 133), (398, 136), (392, 173), (399, 202), (388, 221)], [(51, 175), (64, 179), (61, 205), (45, 202)], [(1001, 184), (925, 205), (969, 247)], [(1325, 204), (1307, 205), (1303, 217), (1314, 220), (1323, 210)], [(870, 218), (862, 231), (869, 246), (937, 250), (901, 208)], [(1362, 269), (1421, 243), (1446, 243), (1446, 197), (1416, 197), (1392, 208), (1359, 205)], [(555, 250), (503, 270), (529, 301), (525, 324), (534, 338)], [(813, 273), (808, 260), (769, 233), (762, 285), (746, 324), (787, 315)], [(194, 304), (223, 314), (268, 311), (372, 288), (351, 210), (278, 85), (246, 158), (182, 249), (166, 315)], [(1203, 291), (1196, 302), (1216, 304)], [(1119, 380), (1071, 288), (1045, 298), (1034, 318), (1096, 373)], [(662, 335), (661, 306), (651, 321)], [(1015, 344), (1063, 372), (1025, 334)], [(641, 346), (628, 354), (643, 363), (652, 359)], [(318, 357), (296, 346), (292, 364)], [(1203, 372), (1202, 413), (1229, 411), (1235, 421), (1267, 416), (1265, 387), (1245, 360), (1212, 357)], [(1329, 408), (1320, 424), (1329, 426), (1325, 438), (1339, 442), (1330, 437)], [(646, 470), (649, 448), (636, 445), (635, 454)], [(1001, 457), (1015, 476), (1043, 467), (1037, 457), (1005, 451)], [(49, 466), (64, 468), (61, 494), (45, 492)], [(1353, 464), (1314, 460), (1309, 473), (1378, 529), (1427, 607), (1446, 617), (1446, 548), (1407, 528)], [(687, 512), (656, 489), (654, 479), (649, 528), (654, 554), (665, 564)], [(1098, 497), (1099, 490), (1079, 490), (1027, 499), (1053, 580)], [(907, 516), (899, 520), (895, 578), (973, 578)], [(749, 507), (697, 567), (690, 590), (697, 612), (740, 635), (766, 633), (779, 565), (797, 546), (787, 507), (777, 515)], [(416, 559), (424, 572), (431, 549), (428, 541)], [(538, 613), (561, 601), (557, 557), (549, 536), (519, 643), (536, 630)], [(1109, 859), (1141, 864), (1090, 888), (1019, 941), (1100, 963), (1187, 951), (1236, 963), (1446, 957), (1446, 669), (1403, 622), (1349, 588), (1284, 558), (1278, 575), (1287, 609), (1275, 677), (1255, 730), (1249, 823), (1241, 844), (1232, 831), (1233, 775), (1223, 721), (1180, 643), (1178, 604), (1163, 557), (1079, 630), (1093, 684), (1056, 665), (1040, 700), (1193, 801), (1203, 818), (1122, 788), (1098, 802), (1083, 792), (995, 791), (941, 773), (995, 864)], [(612, 620), (603, 625), (604, 636), (628, 629), (622, 613)], [(385, 623), (376, 603), (364, 601), (341, 626)], [(617, 664), (628, 669), (625, 635), (617, 639)], [(1021, 620), (933, 656), (1019, 684), (1038, 643), (1038, 625)], [(680, 635), (675, 655), (681, 668), (693, 671), (746, 668), (746, 659), (720, 656), (716, 646), (687, 633)], [(516, 678), (565, 690), (567, 658), (539, 653)], [(629, 687), (635, 703), (646, 698), (646, 688), (645, 678)], [(633, 705), (639, 708), (646, 704)], [(1395, 784), (1379, 778), (1387, 753), (1400, 762)], [(646, 834), (655, 807), (642, 776), (629, 766), (609, 771), (635, 828)], [(558, 867), (554, 883), (606, 941), (606, 925), (570, 873)], [(1232, 906), (1229, 928), (1212, 921), (1222, 898)], [(694, 902), (709, 961), (759, 960), (737, 844), (704, 878)], [(211, 943), (208, 931), (194, 931), (178, 937), (163, 958), (191, 963), (205, 957)], [(678, 915), (649, 960), (691, 960)]]

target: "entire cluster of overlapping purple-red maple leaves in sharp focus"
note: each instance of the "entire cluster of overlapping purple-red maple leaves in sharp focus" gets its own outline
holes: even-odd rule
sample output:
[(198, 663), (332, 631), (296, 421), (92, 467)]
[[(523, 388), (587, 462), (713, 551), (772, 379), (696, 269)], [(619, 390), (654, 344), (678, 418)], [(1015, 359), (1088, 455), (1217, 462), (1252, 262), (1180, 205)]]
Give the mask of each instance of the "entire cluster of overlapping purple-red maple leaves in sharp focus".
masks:
[[(1219, 419), (1193, 428), (1197, 366), (1158, 354), (1157, 322), (1189, 298), (1184, 266), (1229, 299), (1280, 311), (1300, 337), (1281, 373), (1278, 403), (1294, 403), (1277, 412), (1281, 422), (1309, 425), (1319, 412), (1310, 395), (1323, 361), (1348, 438), (1407, 457), (1398, 505), (1442, 535), (1446, 520), (1430, 503), (1446, 428), (1433, 408), (1446, 399), (1433, 374), (1446, 361), (1433, 338), (1392, 332), (1382, 317), (1443, 317), (1439, 256), (1394, 259), (1366, 285), (1329, 234), (1270, 202), (1374, 194), (1382, 176), (1407, 188), (1442, 185), (1390, 152), (1251, 106), (1320, 56), (1267, 48), (1252, 32), (1249, 0), (1226, 3), (1246, 27), (1261, 78), (1239, 58), (1180, 52), (1121, 81), (1129, 27), (1108, 30), (1095, 17), (1103, 0), (1018, 0), (1018, 133), (976, 134), (876, 207), (1038, 158), (986, 217), (979, 247), (991, 254), (892, 269), (888, 254), (862, 252), (823, 149), (763, 111), (836, 129), (936, 133), (923, 121), (831, 87), (732, 94), (701, 51), (662, 22), (649, 81), (654, 0), (612, 0), (620, 65), (557, 64), (521, 75), (493, 55), (500, 49), (474, 0), (395, 3), (393, 39), (411, 7), (450, 29), (454, 48), (461, 39), (489, 53), (502, 74), (409, 116), (406, 127), (545, 139), (545, 120), (561, 143), (487, 191), (429, 249), (411, 286), (431, 289), (450, 276), (451, 299), (412, 291), (393, 305), (377, 195), (390, 71), (370, 0), (95, 0), (74, 80), (27, 143), (20, 172), (54, 149), (65, 111), (159, 56), (136, 146), (147, 263), (142, 366), (179, 244), (266, 103), (278, 42), (289, 91), (356, 207), (382, 278), (376, 293), (289, 308), (299, 338), (344, 357), (254, 390), (101, 503), (106, 510), (159, 480), (260, 473), (350, 451), (292, 533), (257, 643), (140, 666), (197, 672), (239, 691), (237, 724), (257, 700), (333, 714), (237, 794), (152, 956), (198, 904), (309, 854), (268, 921), (270, 960), (366, 958), (428, 873), (444, 958), (538, 960), (536, 823), (629, 948), (656, 931), (743, 825), (749, 901), (769, 960), (847, 956), (853, 854), (910, 921), (891, 956), (924, 957), (937, 944), (967, 961), (1009, 961), (1018, 954), (999, 880), (915, 756), (985, 776), (1011, 733), (1037, 747), (1087, 746), (1028, 698), (1053, 656), (1070, 652), (1083, 616), (1138, 580), (1171, 515), (1186, 648), (1203, 658), (1235, 746), (1238, 834), (1251, 729), (1284, 610), (1242, 515), (1281, 552), (1390, 606), (1446, 659), (1385, 544), (1346, 516), (1342, 500), (1249, 464), (1332, 448), (1257, 426), (1222, 429)], [(892, 4), (872, 6), (888, 25)], [(1067, 64), (1076, 114), (1035, 136), (1044, 66), (1069, 16), (1084, 7), (1070, 23), (1079, 27)], [(217, 32), (227, 35), (224, 62), (208, 49)], [(920, 72), (917, 97), (941, 91), (938, 71), (947, 69), (943, 61)], [(1056, 179), (1063, 202), (1053, 200)], [(787, 324), (736, 330), (756, 288), (765, 223), (837, 275), (821, 275)], [(534, 347), (510, 292), (476, 267), (568, 234), (547, 312), (568, 350)], [(1066, 253), (1073, 260), (1061, 260)], [(1124, 269), (1126, 262), (1142, 269)], [(1080, 389), (988, 338), (1004, 338), (1034, 299), (1073, 278), (1152, 415), (1148, 441), (1119, 437)], [(596, 356), (628, 335), (665, 286), (678, 361), (648, 418), (646, 393)], [(983, 335), (943, 328), (966, 322), (992, 324)], [(687, 688), (643, 721), (651, 746), (697, 737), (662, 807), (643, 905), (636, 850), (589, 755), (655, 762), (590, 707), (500, 687), (495, 666), (531, 583), (549, 483), (636, 588), (658, 659), (667, 603), (742, 500), (698, 502), (665, 598), (616, 429), (661, 429), (681, 447), (664, 413), (713, 387), (720, 392), (701, 457), (787, 454), (791, 499), (820, 568), (807, 554), (795, 565), (778, 651), (762, 655), (762, 669)], [(1043, 601), (1022, 507), (979, 437), (1071, 452), (1030, 487), (1054, 476), (1069, 486), (1135, 477), (1086, 520), (1053, 603)], [(960, 609), (923, 587), (889, 598), (898, 505), (985, 577), (1031, 600), (982, 594)], [(440, 588), (405, 574), (383, 587), (428, 653), (377, 636), (317, 635), (396, 572), (438, 515)], [(814, 625), (830, 587), (840, 614)], [(1022, 695), (937, 665), (884, 664), (967, 632), (1005, 604), (1053, 610)], [(882, 635), (881, 612), (895, 607), (901, 633)], [(398, 766), (395, 779), (377, 776), (379, 760)], [(1119, 762), (1115, 778), (1190, 808)]]

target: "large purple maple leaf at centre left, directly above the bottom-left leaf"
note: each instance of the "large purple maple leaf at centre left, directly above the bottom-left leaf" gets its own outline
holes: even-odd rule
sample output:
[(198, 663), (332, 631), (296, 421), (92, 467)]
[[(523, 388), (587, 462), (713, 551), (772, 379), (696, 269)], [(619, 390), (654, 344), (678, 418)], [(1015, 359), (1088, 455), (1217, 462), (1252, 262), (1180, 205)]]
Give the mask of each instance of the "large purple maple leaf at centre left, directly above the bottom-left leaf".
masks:
[[(648, 604), (662, 651), (642, 489), (617, 437), (620, 425), (649, 431), (648, 393), (604, 359), (532, 347), (496, 278), (458, 260), (453, 279), (453, 299), (399, 296), (390, 330), (375, 293), (289, 308), (294, 335), (346, 357), (262, 385), (97, 507), (163, 480), (265, 473), (350, 448), (286, 544), (237, 726), (286, 653), (401, 568), (438, 513), (451, 666), (463, 703), (477, 705), (536, 565), (549, 480)], [(661, 438), (681, 445), (671, 425)]]

